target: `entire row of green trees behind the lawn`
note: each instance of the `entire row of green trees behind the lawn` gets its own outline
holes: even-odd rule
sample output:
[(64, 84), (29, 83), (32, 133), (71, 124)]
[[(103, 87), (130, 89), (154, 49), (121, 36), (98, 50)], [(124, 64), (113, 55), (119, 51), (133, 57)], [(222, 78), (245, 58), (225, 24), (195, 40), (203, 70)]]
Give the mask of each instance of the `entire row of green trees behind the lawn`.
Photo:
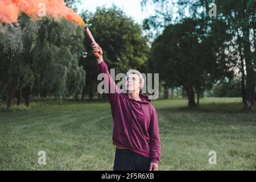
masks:
[[(71, 6), (79, 1), (68, 2)], [(149, 2), (142, 0), (142, 7)], [(151, 2), (155, 15), (143, 26), (114, 6), (81, 13), (104, 48), (109, 68), (159, 73), (164, 90), (182, 86), (189, 107), (198, 105), (204, 91), (217, 82), (239, 77), (244, 109), (251, 109), (256, 100), (255, 2)], [(216, 16), (209, 16), (212, 2)], [(176, 18), (171, 7), (178, 9)], [(14, 98), (18, 105), (24, 98), (29, 106), (31, 95), (93, 99), (98, 72), (82, 27), (64, 19), (34, 21), (21, 14), (19, 25), (2, 23), (0, 28), (0, 96), (7, 108)], [(220, 90), (218, 95), (229, 95)]]

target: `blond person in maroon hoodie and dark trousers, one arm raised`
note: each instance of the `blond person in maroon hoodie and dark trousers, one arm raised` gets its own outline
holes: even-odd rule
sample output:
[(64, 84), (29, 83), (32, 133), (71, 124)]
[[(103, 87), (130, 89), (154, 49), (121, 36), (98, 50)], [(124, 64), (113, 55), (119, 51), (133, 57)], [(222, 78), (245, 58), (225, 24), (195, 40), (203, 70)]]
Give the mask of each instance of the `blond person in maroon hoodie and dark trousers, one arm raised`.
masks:
[[(97, 68), (105, 73), (108, 84), (114, 122), (113, 144), (116, 146), (114, 170), (158, 170), (160, 160), (160, 137), (158, 116), (154, 106), (144, 94), (139, 93), (144, 80), (139, 71), (127, 72), (126, 90), (121, 92), (109, 74), (101, 47), (93, 47)], [(114, 92), (111, 92), (114, 90)]]

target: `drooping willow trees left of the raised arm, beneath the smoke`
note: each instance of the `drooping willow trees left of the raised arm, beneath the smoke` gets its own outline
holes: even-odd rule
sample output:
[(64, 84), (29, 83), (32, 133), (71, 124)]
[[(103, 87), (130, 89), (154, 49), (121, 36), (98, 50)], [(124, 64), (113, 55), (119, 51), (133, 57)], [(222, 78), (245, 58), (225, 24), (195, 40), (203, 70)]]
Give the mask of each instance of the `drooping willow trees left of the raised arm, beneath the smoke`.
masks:
[(8, 98), (15, 94), (18, 104), (22, 95), (30, 105), (30, 95), (76, 95), (85, 85), (85, 71), (79, 66), (83, 50), (83, 28), (60, 20), (32, 21), (19, 17), (19, 26), (5, 24), (1, 32), (0, 93)]

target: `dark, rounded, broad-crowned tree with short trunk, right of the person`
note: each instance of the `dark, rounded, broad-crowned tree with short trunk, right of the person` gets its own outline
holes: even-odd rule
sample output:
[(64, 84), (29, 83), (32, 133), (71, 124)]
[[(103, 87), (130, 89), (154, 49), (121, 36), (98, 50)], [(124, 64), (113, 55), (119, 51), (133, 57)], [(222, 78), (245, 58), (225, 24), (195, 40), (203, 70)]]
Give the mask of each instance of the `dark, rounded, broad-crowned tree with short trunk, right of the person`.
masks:
[[(164, 80), (182, 85), (188, 95), (188, 106), (196, 106), (205, 89), (225, 75), (231, 75), (221, 53), (223, 40), (213, 36), (203, 22), (185, 19), (168, 26), (152, 44), (150, 63)], [(214, 43), (212, 43), (214, 40)]]

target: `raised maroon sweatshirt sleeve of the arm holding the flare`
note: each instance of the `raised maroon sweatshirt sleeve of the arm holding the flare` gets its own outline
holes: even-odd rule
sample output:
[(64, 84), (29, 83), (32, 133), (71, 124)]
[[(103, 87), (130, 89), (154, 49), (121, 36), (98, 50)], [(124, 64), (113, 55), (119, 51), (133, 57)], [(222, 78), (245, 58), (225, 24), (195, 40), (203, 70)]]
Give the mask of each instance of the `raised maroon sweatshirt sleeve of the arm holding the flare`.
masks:
[(103, 60), (100, 64), (97, 64), (97, 69), (99, 73), (105, 73), (104, 75), (104, 86), (107, 86), (109, 102), (111, 105), (117, 100), (118, 93), (121, 93), (121, 90), (118, 89), (117, 85), (113, 81), (113, 78), (110, 76), (108, 71), (108, 65)]

